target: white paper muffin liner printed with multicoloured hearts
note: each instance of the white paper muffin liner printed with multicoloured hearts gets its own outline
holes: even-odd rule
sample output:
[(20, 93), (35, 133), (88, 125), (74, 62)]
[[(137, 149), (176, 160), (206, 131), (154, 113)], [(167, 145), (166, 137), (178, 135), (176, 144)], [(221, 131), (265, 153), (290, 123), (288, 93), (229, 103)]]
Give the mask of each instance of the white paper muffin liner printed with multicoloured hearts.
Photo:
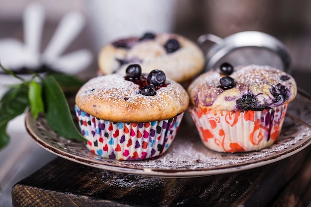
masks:
[(183, 113), (168, 120), (120, 123), (98, 119), (75, 106), (81, 134), (92, 153), (117, 160), (142, 160), (163, 154), (177, 133)]

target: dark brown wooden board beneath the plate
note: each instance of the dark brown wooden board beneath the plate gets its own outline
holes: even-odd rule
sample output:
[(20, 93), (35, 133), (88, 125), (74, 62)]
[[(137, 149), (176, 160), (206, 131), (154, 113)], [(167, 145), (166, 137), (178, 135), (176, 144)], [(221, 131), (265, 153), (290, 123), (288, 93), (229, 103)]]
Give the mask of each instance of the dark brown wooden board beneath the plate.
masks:
[(17, 183), (12, 202), (14, 207), (264, 207), (295, 175), (303, 175), (310, 151), (311, 146), (250, 170), (184, 179), (112, 172), (57, 158)]

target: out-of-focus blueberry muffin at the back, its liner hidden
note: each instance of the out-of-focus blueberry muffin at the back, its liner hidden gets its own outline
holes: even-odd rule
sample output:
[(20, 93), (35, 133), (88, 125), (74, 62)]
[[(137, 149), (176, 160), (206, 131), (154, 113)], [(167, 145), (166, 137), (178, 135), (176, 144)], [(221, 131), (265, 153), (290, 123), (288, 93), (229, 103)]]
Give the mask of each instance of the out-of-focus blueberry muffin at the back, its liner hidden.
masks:
[(204, 68), (203, 51), (191, 40), (177, 34), (146, 33), (142, 37), (119, 39), (99, 53), (102, 74), (125, 73), (129, 64), (140, 64), (143, 73), (161, 69), (166, 76), (184, 82)]

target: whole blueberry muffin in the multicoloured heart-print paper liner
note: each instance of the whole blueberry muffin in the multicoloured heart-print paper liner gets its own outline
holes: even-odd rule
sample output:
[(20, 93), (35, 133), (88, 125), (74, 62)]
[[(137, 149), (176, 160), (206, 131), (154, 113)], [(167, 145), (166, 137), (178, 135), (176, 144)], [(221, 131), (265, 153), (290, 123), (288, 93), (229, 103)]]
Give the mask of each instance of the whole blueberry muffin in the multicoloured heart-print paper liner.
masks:
[(155, 69), (97, 76), (76, 95), (76, 114), (86, 147), (102, 157), (140, 160), (164, 153), (189, 104), (177, 82)]

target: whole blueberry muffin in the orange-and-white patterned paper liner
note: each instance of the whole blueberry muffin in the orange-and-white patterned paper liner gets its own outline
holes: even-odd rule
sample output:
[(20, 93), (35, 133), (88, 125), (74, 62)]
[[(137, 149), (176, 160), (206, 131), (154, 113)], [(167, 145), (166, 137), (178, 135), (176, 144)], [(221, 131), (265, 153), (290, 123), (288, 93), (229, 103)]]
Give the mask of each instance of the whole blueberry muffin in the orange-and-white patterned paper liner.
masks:
[(189, 86), (190, 114), (203, 143), (219, 152), (258, 150), (273, 144), (288, 103), (297, 94), (294, 78), (269, 66), (225, 63)]

